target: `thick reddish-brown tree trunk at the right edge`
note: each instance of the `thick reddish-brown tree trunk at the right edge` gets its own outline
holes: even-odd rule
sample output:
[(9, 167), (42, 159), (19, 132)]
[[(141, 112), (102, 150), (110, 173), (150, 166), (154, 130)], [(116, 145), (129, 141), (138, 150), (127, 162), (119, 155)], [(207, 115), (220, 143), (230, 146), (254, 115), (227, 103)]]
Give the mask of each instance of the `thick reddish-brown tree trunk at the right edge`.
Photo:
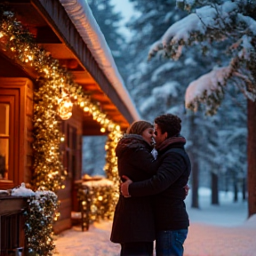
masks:
[(248, 110), (248, 218), (256, 213), (256, 101), (247, 100)]

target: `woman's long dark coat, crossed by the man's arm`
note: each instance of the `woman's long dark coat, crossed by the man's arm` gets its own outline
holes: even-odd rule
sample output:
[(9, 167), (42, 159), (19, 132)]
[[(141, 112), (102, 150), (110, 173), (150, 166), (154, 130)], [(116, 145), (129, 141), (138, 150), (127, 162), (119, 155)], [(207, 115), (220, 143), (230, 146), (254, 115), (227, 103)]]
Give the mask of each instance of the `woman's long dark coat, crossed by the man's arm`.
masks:
[[(148, 180), (156, 173), (157, 163), (151, 146), (140, 135), (125, 135), (116, 147), (119, 176), (132, 181)], [(114, 243), (152, 242), (155, 222), (152, 196), (119, 196), (110, 240)]]

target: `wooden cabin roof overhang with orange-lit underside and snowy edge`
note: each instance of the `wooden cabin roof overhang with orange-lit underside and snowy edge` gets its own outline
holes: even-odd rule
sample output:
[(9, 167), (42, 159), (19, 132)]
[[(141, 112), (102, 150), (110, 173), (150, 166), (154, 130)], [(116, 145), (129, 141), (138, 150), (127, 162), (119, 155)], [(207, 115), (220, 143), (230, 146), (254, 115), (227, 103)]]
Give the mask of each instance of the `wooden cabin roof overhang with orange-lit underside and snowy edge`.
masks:
[[(64, 0), (61, 0), (61, 2), (64, 6), (69, 2), (70, 9), (70, 4), (79, 1), (66, 1), (65, 3)], [(9, 0), (5, 1), (4, 4), (11, 5), (12, 10), (17, 15), (17, 20), (28, 27), (29, 31), (35, 36), (36, 43), (42, 45), (47, 52), (51, 52), (54, 59), (59, 60), (63, 66), (68, 68), (68, 71), (74, 76), (74, 81), (83, 86), (84, 91), (90, 94), (92, 100), (100, 103), (102, 112), (107, 114), (109, 119), (119, 124), (123, 130), (134, 120), (140, 119), (130, 95), (125, 89), (122, 78), (116, 70), (116, 64), (114, 60), (111, 60), (112, 56), (109, 57), (108, 44), (101, 37), (96, 38), (101, 35), (101, 32), (97, 30), (100, 28), (97, 28), (98, 25), (92, 16), (91, 10), (86, 9), (88, 6), (79, 9), (78, 5), (73, 5), (72, 10), (75, 7), (76, 10), (77, 8), (79, 10), (76, 14), (73, 13), (75, 18), (71, 17), (71, 19), (79, 20), (78, 15), (87, 17), (87, 21), (83, 21), (85, 18), (80, 19), (81, 22), (87, 22), (87, 28), (83, 27), (81, 29), (87, 29), (89, 37), (90, 33), (94, 33), (90, 39), (91, 41), (94, 40), (91, 46), (88, 40), (84, 42), (86, 39), (82, 37), (83, 35), (80, 35), (81, 31), (80, 34), (77, 31), (76, 27), (79, 24), (75, 22), (75, 26), (69, 18), (70, 15), (68, 16), (67, 12), (71, 11), (67, 11), (68, 6), (63, 7), (60, 1)], [(96, 50), (97, 47), (103, 47), (104, 49), (97, 52), (93, 50), (92, 46), (96, 47)], [(108, 59), (110, 59), (110, 62)], [(105, 64), (101, 60), (106, 60)], [(25, 72), (36, 79), (36, 74), (32, 71), (26, 69)], [(92, 126), (91, 130), (100, 131), (100, 124), (93, 121), (91, 116), (84, 114), (84, 121), (87, 123), (87, 127), (88, 125)]]

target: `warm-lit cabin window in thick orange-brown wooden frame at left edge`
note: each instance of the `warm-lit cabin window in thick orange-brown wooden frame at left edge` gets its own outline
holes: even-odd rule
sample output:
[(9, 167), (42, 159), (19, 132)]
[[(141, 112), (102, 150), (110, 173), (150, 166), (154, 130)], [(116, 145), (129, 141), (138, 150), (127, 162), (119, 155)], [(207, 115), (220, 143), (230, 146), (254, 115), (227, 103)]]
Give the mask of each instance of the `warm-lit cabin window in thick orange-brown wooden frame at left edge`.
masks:
[(17, 187), (31, 177), (32, 89), (27, 78), (0, 77), (0, 189)]

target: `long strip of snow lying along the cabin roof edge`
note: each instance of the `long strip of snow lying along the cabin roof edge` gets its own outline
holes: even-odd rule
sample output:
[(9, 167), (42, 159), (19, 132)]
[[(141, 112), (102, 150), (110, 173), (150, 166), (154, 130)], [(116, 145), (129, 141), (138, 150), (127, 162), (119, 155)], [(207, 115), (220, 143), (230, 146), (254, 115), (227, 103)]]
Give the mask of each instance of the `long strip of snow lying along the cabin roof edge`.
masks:
[(97, 61), (105, 76), (107, 76), (110, 84), (115, 88), (124, 105), (129, 109), (134, 120), (139, 120), (140, 115), (134, 107), (135, 105), (129, 92), (126, 90), (123, 78), (116, 68), (116, 63), (105, 37), (94, 19), (86, 0), (60, 0), (60, 4), (65, 8), (68, 17), (75, 25), (90, 52), (92, 52), (93, 58)]

